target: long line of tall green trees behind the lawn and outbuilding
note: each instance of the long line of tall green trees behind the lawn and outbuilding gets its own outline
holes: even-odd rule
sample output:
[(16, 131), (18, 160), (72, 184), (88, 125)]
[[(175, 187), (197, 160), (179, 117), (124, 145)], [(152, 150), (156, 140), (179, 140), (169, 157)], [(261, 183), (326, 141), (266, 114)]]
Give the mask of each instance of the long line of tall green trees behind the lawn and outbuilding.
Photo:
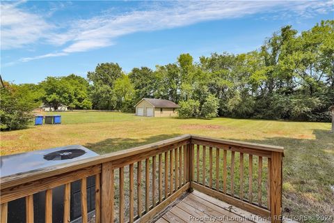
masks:
[(180, 54), (175, 63), (129, 73), (118, 63), (100, 63), (86, 79), (72, 74), (11, 85), (26, 92), (29, 102), (50, 107), (134, 112), (141, 98), (161, 98), (180, 104), (184, 118), (329, 121), (328, 107), (334, 105), (334, 20), (301, 33), (284, 26), (260, 49), (244, 54), (213, 53), (198, 62)]

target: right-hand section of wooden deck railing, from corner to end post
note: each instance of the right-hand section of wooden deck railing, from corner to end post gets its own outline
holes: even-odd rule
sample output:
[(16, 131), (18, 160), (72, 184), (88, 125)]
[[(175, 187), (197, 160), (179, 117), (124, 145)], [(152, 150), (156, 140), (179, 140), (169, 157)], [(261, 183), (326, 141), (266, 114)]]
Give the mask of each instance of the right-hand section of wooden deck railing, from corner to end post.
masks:
[[(248, 210), (251, 213), (269, 217), (271, 222), (281, 222), (282, 220), (282, 164), (284, 156), (284, 148), (280, 146), (269, 146), (264, 144), (253, 144), (243, 141), (232, 141), (225, 139), (216, 139), (212, 137), (202, 137), (198, 135), (191, 135), (191, 147), (196, 152), (196, 157), (190, 160), (190, 163), (196, 163), (197, 178), (191, 180), (191, 189), (194, 188), (208, 194), (209, 196), (216, 197), (227, 203), (231, 203), (234, 206)], [(200, 150), (200, 147), (202, 150)], [(212, 148), (216, 149), (216, 153), (212, 152)], [(223, 153), (219, 151), (223, 150)], [(206, 155), (209, 153), (209, 155)], [(212, 156), (216, 155), (216, 159)], [(221, 155), (223, 154), (221, 157)], [(236, 159), (236, 154), (239, 155), (239, 159)], [(244, 156), (248, 155), (248, 162), (244, 162)], [(258, 157), (258, 158), (256, 158)], [(266, 157), (267, 162), (264, 162)], [(209, 160), (209, 168), (205, 163)], [(213, 160), (216, 160), (216, 167), (213, 167)], [(202, 165), (199, 162), (202, 162)], [(228, 162), (230, 161), (230, 162)], [(267, 166), (267, 173), (262, 169), (264, 163)], [(256, 164), (256, 165), (255, 165)], [(228, 169), (229, 165), (229, 169)], [(237, 175), (236, 167), (239, 167), (239, 194), (236, 194), (236, 185), (234, 183), (234, 177)], [(221, 166), (223, 168), (221, 169)], [(257, 178), (254, 178), (254, 167), (257, 167)], [(194, 166), (191, 171), (194, 171)], [(216, 176), (213, 174), (213, 170), (221, 171), (222, 178), (219, 178), (219, 174)], [(248, 182), (244, 180), (245, 170), (248, 174)], [(230, 174), (228, 174), (230, 171)], [(202, 175), (200, 179), (200, 175)], [(268, 190), (266, 194), (267, 206), (264, 206), (262, 202), (262, 176), (267, 176)], [(228, 179), (230, 176), (230, 180)], [(261, 176), (259, 178), (258, 176)], [(213, 178), (216, 177), (216, 184), (213, 185)], [(222, 187), (220, 187), (220, 182)], [(247, 184), (245, 184), (247, 183)], [(244, 194), (244, 186), (248, 185), (248, 194)], [(255, 185), (255, 188), (254, 188)], [(228, 191), (230, 187), (230, 191)], [(256, 190), (257, 191), (256, 191)], [(254, 196), (253, 193), (256, 193)], [(254, 202), (254, 199), (257, 199)]]

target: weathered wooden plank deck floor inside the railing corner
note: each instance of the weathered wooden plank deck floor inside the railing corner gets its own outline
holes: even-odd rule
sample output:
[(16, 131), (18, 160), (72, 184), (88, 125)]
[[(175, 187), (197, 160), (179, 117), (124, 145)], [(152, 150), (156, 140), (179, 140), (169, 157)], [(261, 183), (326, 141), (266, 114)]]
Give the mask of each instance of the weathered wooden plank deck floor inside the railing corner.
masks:
[(175, 201), (158, 217), (153, 222), (269, 222), (196, 190)]

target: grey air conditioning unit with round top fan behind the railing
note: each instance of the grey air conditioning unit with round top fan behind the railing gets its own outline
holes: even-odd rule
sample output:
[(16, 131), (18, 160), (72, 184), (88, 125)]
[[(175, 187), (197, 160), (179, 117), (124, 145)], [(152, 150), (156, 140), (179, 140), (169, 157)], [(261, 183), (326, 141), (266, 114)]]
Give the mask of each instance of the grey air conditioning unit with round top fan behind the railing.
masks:
[[(1, 178), (13, 174), (22, 174), (58, 164), (76, 162), (88, 157), (97, 156), (84, 146), (64, 146), (49, 148), (29, 153), (5, 155), (1, 159)], [(52, 222), (63, 222), (65, 185), (53, 189)], [(71, 222), (81, 222), (81, 180), (71, 183)], [(26, 201), (24, 198), (8, 202), (8, 222), (26, 222)], [(45, 192), (33, 194), (34, 222), (45, 222)], [(95, 214), (95, 176), (87, 178), (88, 217)]]

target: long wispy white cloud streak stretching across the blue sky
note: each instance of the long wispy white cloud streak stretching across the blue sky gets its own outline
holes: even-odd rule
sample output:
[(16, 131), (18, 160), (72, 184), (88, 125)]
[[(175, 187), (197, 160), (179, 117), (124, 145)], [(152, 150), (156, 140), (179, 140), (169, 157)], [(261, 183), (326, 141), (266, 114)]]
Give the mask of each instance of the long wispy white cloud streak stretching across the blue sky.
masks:
[[(134, 10), (113, 15), (107, 10), (103, 15), (76, 20), (58, 31), (40, 15), (17, 8), (14, 4), (1, 4), (1, 45), (5, 49), (36, 43), (40, 39), (51, 45), (63, 46), (58, 53), (21, 59), (31, 61), (50, 56), (64, 56), (108, 47), (116, 38), (140, 31), (156, 31), (187, 26), (208, 20), (244, 17), (255, 13), (296, 13), (309, 17), (328, 13), (333, 1), (172, 1), (155, 2), (145, 10)], [(19, 15), (19, 16), (17, 16)], [(6, 19), (6, 20), (3, 20)], [(4, 22), (2, 22), (4, 21)], [(2, 27), (3, 26), (3, 27)]]

